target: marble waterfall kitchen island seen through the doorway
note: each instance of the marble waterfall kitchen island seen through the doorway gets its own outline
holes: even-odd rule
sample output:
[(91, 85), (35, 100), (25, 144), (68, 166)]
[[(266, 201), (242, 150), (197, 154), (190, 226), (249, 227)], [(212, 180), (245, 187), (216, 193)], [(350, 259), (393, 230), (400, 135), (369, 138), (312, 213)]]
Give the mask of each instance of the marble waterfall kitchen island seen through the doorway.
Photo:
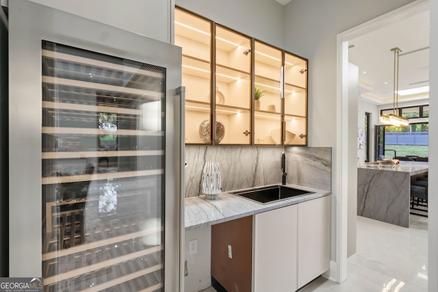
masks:
[(427, 162), (359, 165), (357, 215), (409, 228), (411, 178), (427, 172)]

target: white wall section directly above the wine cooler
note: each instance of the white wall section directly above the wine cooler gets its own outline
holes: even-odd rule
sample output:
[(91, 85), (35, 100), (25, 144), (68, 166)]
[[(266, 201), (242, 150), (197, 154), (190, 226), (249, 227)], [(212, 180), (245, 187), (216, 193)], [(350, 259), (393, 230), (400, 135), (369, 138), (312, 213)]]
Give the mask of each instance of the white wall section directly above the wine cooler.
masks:
[[(14, 0), (10, 0), (14, 1)], [(162, 42), (170, 42), (173, 0), (30, 0)]]

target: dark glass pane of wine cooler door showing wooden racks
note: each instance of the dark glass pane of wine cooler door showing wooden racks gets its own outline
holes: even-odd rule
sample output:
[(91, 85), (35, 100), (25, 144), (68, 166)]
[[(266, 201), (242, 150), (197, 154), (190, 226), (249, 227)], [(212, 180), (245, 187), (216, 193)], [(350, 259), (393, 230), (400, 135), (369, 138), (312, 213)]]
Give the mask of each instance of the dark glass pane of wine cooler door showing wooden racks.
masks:
[(165, 73), (42, 42), (47, 291), (163, 287)]

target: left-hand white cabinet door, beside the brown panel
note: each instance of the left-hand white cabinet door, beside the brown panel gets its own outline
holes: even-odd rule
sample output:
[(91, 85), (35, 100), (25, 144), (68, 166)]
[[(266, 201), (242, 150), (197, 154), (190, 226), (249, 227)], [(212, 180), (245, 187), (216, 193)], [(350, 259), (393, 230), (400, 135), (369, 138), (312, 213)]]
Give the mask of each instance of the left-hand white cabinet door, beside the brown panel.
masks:
[(254, 216), (253, 291), (296, 291), (297, 205)]

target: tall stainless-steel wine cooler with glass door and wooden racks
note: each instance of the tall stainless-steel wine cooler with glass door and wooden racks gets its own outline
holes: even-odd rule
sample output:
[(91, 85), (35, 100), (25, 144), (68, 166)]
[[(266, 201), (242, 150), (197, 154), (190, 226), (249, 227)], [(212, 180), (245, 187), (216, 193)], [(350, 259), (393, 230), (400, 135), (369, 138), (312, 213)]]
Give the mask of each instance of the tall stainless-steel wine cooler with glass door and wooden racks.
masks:
[(178, 291), (181, 49), (22, 0), (9, 42), (10, 276)]

